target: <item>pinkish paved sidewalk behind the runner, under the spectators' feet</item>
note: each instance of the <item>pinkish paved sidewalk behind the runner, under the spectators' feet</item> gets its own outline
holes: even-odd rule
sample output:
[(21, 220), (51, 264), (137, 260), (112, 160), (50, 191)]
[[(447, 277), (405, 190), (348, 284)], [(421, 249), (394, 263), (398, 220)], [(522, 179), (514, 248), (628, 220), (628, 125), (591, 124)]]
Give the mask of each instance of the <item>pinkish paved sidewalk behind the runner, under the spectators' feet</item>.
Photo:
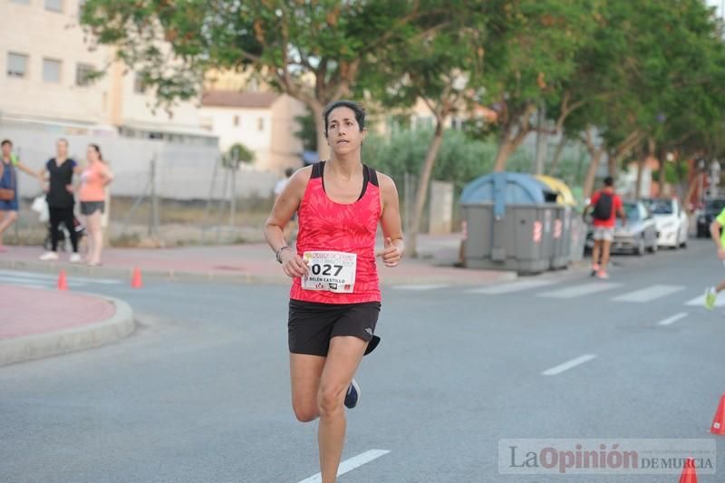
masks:
[[(420, 257), (405, 258), (401, 266), (386, 268), (379, 264), (382, 284), (465, 284), (486, 285), (516, 278), (511, 272), (456, 268), (459, 235), (420, 237)], [(179, 279), (224, 279), (244, 283), (288, 284), (266, 244), (237, 246), (188, 246), (180, 248), (108, 248), (103, 252), (103, 266), (71, 266), (68, 255), (60, 262), (41, 262), (40, 248), (8, 246), (0, 254), (0, 268), (29, 269), (57, 273), (64, 268), (69, 274), (128, 277), (134, 268), (144, 276)]]

